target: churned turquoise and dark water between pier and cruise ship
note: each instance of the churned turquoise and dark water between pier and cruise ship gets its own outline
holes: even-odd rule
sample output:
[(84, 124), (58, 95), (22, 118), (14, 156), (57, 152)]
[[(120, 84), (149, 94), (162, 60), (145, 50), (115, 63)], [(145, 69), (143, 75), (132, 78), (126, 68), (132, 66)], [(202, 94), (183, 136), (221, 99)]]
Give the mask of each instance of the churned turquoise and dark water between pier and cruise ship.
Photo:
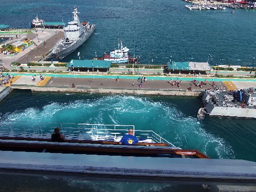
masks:
[(250, 119), (197, 119), (196, 97), (141, 97), (14, 91), (0, 103), (0, 122), (31, 121), (134, 125), (173, 145), (211, 158), (256, 161), (256, 124)]

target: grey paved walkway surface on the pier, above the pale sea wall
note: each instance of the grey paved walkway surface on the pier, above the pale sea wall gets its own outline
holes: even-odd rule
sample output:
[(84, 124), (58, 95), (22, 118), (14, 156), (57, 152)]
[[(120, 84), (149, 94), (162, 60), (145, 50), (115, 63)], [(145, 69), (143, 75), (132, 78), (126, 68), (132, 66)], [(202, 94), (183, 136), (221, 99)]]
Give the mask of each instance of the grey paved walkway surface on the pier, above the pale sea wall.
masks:
[[(50, 86), (50, 87), (72, 87), (74, 83), (75, 87), (79, 89), (93, 88), (93, 89), (141, 89), (141, 90), (187, 90), (188, 87), (192, 87), (192, 90), (204, 90), (207, 87), (212, 87), (211, 83), (207, 83), (203, 88), (191, 85), (189, 81), (182, 81), (181, 86), (171, 85), (168, 81), (163, 80), (147, 80), (142, 83), (142, 87), (139, 88), (140, 82), (136, 79), (119, 79), (119, 83), (114, 78), (61, 78), (61, 77), (47, 77), (44, 76), (44, 81), (39, 79), (39, 76), (35, 76), (35, 82), (31, 81), (31, 76), (21, 76), (13, 85), (32, 85), (32, 86)], [(132, 85), (134, 83), (134, 85)], [(221, 82), (215, 82), (216, 86), (225, 87)]]

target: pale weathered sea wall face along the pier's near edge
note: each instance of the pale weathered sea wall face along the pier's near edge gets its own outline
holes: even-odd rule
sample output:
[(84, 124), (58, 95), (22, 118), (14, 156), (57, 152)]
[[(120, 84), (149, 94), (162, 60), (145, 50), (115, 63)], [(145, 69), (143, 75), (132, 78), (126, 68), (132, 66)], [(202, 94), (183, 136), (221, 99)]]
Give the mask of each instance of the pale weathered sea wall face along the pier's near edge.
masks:
[(194, 96), (198, 97), (203, 91), (187, 90), (131, 90), (131, 89), (91, 89), (83, 88), (61, 88), (61, 87), (29, 87), (29, 86), (12, 86), (13, 89), (29, 89), (35, 92), (62, 92), (62, 93), (105, 93), (105, 94), (143, 94), (143, 95), (175, 95), (175, 96)]

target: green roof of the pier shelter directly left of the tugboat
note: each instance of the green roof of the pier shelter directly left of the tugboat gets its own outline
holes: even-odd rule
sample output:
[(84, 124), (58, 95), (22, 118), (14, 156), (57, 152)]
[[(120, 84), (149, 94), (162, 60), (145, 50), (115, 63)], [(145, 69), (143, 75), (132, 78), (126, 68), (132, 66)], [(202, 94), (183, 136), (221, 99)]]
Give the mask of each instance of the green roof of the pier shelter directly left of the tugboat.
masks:
[(67, 67), (74, 68), (110, 68), (111, 61), (104, 60), (71, 60)]

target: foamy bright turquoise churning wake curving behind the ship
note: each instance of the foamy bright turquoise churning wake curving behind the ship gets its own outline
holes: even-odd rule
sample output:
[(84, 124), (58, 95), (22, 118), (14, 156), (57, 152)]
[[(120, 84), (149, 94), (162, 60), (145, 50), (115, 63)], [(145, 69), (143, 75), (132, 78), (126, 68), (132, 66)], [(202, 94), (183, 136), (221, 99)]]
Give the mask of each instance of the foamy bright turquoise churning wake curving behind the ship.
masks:
[[(66, 95), (73, 97), (73, 95)], [(1, 122), (90, 123), (134, 125), (135, 130), (153, 130), (173, 145), (198, 149), (212, 158), (235, 158), (232, 147), (204, 129), (196, 115), (187, 116), (173, 103), (157, 97), (101, 95), (31, 106), (2, 115)], [(187, 109), (184, 109), (187, 110)], [(214, 127), (212, 127), (214, 129)]]

